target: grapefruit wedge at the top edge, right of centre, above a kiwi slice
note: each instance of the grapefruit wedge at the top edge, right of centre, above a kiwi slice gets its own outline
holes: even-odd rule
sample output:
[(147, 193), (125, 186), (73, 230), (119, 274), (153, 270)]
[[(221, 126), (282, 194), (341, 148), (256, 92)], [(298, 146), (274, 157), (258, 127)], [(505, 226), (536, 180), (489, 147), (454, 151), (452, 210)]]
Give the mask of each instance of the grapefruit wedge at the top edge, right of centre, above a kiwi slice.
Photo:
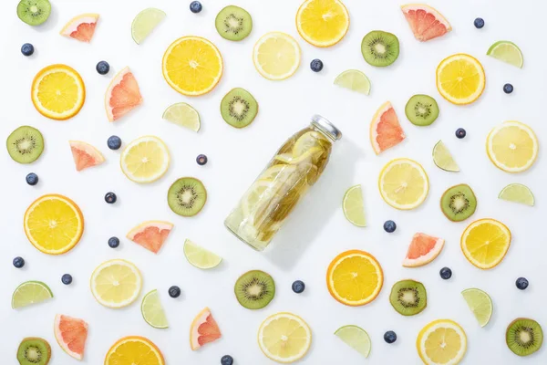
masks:
[(452, 30), (449, 21), (437, 10), (425, 4), (402, 5), (408, 25), (420, 42), (444, 36)]

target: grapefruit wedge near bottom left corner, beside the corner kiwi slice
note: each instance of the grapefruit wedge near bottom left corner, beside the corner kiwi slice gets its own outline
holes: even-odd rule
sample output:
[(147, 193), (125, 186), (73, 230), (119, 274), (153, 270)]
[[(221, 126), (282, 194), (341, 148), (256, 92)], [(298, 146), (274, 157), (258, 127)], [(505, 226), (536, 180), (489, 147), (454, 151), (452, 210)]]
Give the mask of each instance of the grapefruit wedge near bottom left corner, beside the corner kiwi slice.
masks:
[(76, 360), (84, 358), (86, 339), (88, 339), (88, 323), (83, 319), (57, 314), (54, 331), (61, 349)]

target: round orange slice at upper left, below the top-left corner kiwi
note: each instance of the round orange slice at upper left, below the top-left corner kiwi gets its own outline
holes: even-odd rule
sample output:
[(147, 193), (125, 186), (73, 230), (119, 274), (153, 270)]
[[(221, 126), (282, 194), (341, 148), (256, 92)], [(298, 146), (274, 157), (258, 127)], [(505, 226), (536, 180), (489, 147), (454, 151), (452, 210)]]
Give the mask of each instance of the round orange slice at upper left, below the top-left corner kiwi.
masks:
[(52, 120), (67, 120), (82, 109), (86, 87), (74, 68), (51, 65), (36, 74), (31, 94), (40, 114)]

